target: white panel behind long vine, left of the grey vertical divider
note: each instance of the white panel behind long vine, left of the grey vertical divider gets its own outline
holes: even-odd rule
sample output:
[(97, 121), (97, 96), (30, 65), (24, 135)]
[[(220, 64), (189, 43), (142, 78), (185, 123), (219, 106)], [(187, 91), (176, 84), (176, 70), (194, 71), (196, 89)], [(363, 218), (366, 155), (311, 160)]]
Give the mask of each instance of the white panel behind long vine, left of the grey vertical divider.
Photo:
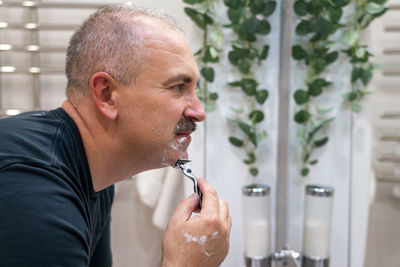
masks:
[[(279, 54), (280, 54), (280, 8), (281, 2), (277, 1), (277, 9), (270, 17), (271, 34), (266, 41), (271, 50), (267, 61), (262, 64), (257, 75), (260, 77), (260, 88), (269, 90), (269, 98), (263, 108), (265, 119), (262, 122), (268, 132), (267, 140), (260, 145), (258, 162), (258, 182), (271, 187), (271, 245), (275, 246), (275, 206), (277, 183), (277, 136), (278, 136), (278, 86), (279, 86)], [(223, 14), (223, 16), (226, 16)], [(226, 40), (226, 47), (230, 47)], [(226, 55), (225, 55), (226, 56)], [(226, 83), (240, 79), (238, 73), (231, 70), (227, 59), (222, 61), (223, 67), (217, 71), (216, 88), (219, 92), (218, 108), (208, 116), (207, 125), (207, 178), (217, 188), (221, 198), (226, 199), (230, 205), (232, 216), (231, 247), (227, 259), (222, 266), (237, 267), (244, 265), (244, 234), (242, 192), (244, 184), (254, 182), (249, 178), (248, 167), (243, 163), (245, 157), (243, 149), (232, 146), (228, 137), (231, 126), (227, 118), (231, 114), (231, 107), (240, 107), (243, 103), (243, 93), (235, 93), (238, 89), (227, 88)], [(230, 72), (226, 71), (229, 70)]]

